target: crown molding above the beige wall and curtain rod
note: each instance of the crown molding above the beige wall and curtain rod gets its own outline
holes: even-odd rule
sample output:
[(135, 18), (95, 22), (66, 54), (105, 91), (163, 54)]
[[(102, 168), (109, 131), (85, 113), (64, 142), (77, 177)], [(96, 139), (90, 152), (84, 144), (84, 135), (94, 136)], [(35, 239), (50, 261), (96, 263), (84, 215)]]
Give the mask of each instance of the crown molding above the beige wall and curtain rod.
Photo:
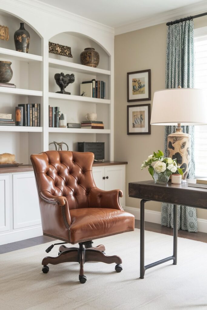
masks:
[(203, 0), (197, 3), (193, 3), (191, 5), (185, 7), (179, 7), (175, 10), (166, 11), (164, 13), (151, 15), (148, 18), (135, 21), (130, 24), (121, 25), (119, 27), (115, 27), (115, 35), (167, 23), (171, 20), (180, 19), (190, 15), (196, 15), (200, 13), (204, 13), (207, 11), (207, 1)]

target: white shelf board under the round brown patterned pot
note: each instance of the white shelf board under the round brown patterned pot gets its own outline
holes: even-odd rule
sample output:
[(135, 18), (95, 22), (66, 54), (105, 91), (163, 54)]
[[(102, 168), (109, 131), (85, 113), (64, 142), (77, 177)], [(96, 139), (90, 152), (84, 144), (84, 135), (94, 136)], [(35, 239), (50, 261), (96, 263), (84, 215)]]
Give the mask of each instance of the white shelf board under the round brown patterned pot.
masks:
[(106, 74), (110, 75), (111, 72), (109, 70), (99, 69), (99, 68), (92, 68), (88, 66), (84, 66), (83, 64), (76, 64), (64, 60), (49, 58), (49, 67), (56, 68), (56, 69), (73, 69), (74, 72), (86, 73), (86, 74)]

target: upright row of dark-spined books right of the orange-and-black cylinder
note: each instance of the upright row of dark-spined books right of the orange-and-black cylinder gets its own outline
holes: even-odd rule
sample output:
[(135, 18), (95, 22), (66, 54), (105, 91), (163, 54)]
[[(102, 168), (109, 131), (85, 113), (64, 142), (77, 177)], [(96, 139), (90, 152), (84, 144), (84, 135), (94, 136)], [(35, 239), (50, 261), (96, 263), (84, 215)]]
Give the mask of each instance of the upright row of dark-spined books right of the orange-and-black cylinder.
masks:
[(23, 119), (21, 126), (39, 127), (40, 126), (40, 104), (18, 104), (18, 107), (23, 107)]

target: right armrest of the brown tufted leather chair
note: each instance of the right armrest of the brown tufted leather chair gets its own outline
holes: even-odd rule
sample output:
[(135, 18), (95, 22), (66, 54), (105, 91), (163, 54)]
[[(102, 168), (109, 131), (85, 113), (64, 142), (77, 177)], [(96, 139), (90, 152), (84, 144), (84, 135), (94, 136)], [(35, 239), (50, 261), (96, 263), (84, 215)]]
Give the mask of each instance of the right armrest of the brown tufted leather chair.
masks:
[(103, 191), (100, 188), (93, 187), (88, 193), (89, 208), (109, 208), (123, 210), (119, 203), (119, 197), (122, 196), (123, 193), (120, 189)]

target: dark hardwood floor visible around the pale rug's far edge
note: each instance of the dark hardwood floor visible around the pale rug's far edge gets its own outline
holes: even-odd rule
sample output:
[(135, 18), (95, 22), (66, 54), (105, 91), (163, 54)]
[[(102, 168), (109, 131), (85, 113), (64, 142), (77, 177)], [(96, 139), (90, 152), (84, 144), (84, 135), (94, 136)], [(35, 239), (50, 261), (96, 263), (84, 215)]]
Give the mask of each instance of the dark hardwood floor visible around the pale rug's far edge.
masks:
[[(140, 228), (140, 221), (135, 220), (135, 227)], [(159, 232), (166, 235), (173, 236), (173, 229), (161, 226), (160, 224), (145, 222), (145, 230), (152, 232)], [(178, 230), (178, 237), (192, 239), (196, 241), (202, 241), (207, 243), (207, 233), (205, 232), (187, 232), (183, 230)], [(0, 254), (7, 253), (19, 249), (28, 248), (30, 246), (36, 246), (38, 244), (54, 242), (54, 239), (47, 236), (39, 236), (35, 238), (30, 238), (26, 240), (21, 240), (17, 242), (7, 243), (0, 246)]]

